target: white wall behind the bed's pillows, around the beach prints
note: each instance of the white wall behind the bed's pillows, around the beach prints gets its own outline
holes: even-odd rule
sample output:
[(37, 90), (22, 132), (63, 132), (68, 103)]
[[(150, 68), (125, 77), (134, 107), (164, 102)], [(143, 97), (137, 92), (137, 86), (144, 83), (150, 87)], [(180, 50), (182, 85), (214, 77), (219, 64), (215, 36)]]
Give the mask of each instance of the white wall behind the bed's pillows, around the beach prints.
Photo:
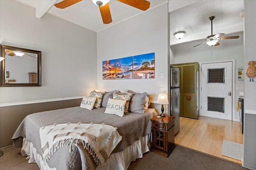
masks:
[[(97, 33), (98, 89), (147, 92), (157, 100), (158, 88), (168, 93), (168, 4)], [(102, 80), (102, 61), (155, 53), (155, 78)], [(164, 72), (164, 78), (160, 73)], [(160, 107), (160, 106), (159, 106)]]

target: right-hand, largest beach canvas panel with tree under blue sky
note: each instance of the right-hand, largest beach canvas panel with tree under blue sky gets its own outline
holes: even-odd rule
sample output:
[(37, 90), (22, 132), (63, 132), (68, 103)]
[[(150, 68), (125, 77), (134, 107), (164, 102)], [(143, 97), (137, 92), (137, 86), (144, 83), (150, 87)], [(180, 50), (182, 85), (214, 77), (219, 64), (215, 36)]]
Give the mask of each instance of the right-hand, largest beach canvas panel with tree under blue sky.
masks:
[(155, 78), (155, 53), (133, 56), (133, 78)]

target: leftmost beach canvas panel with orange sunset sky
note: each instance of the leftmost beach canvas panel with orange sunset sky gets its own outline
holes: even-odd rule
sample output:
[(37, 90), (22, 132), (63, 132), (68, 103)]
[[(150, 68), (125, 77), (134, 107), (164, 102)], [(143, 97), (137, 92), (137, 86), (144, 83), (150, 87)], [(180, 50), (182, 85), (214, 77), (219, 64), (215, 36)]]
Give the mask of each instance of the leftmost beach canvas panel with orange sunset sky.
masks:
[(116, 79), (116, 60), (102, 61), (103, 80)]

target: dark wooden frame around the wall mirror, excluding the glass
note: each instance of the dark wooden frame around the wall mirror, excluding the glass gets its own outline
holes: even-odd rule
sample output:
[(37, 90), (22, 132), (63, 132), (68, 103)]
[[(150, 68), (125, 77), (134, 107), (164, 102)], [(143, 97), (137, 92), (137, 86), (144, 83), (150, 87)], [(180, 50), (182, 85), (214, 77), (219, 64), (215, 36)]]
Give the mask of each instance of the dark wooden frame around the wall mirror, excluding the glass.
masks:
[(1, 78), (0, 78), (0, 87), (22, 87), (22, 86), (41, 86), (41, 51), (35, 51), (30, 49), (23, 49), (18, 47), (11, 47), (7, 45), (0, 45), (1, 51), (0, 56), (5, 58), (5, 50), (11, 51), (22, 51), (24, 53), (34, 53), (37, 55), (37, 83), (6, 83), (5, 82), (5, 60), (1, 61)]

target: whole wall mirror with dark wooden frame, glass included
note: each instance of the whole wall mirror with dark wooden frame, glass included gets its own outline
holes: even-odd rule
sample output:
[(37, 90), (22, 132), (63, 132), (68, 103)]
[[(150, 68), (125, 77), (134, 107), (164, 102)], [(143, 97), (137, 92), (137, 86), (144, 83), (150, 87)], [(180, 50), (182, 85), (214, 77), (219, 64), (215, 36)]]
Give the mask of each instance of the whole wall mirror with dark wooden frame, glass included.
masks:
[(1, 45), (1, 87), (41, 86), (41, 51)]

